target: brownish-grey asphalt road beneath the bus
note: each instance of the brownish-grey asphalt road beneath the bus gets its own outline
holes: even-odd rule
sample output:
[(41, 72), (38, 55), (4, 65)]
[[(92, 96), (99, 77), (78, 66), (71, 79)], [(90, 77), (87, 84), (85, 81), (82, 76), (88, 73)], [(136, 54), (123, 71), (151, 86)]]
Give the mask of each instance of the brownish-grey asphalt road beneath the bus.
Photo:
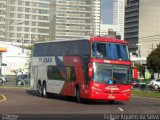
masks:
[[(146, 115), (155, 117), (152, 114), (160, 113), (159, 99), (131, 97), (129, 102), (115, 102), (115, 104), (95, 101), (81, 104), (76, 103), (74, 98), (71, 97), (53, 96), (51, 98), (42, 98), (37, 96), (35, 91), (29, 89), (8, 88), (0, 88), (0, 95), (6, 97), (6, 100), (0, 102), (0, 120), (5, 120), (4, 118), (8, 116), (14, 118), (23, 116), (27, 116), (27, 118), (29, 116), (46, 118), (47, 116), (56, 119), (69, 119), (71, 117), (73, 120), (77, 119), (77, 115), (78, 118), (84, 117), (83, 120), (85, 118), (107, 119), (108, 115), (118, 114), (144, 114), (146, 119)], [(156, 117), (155, 119), (160, 119), (160, 115)], [(116, 120), (116, 118), (113, 120)]]

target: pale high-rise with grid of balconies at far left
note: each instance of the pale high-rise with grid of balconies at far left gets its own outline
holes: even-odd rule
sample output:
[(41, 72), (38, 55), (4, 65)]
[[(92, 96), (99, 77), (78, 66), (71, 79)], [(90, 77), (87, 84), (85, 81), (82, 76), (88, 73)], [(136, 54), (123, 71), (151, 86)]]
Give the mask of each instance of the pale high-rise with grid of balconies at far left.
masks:
[(49, 39), (50, 0), (0, 0), (0, 40)]

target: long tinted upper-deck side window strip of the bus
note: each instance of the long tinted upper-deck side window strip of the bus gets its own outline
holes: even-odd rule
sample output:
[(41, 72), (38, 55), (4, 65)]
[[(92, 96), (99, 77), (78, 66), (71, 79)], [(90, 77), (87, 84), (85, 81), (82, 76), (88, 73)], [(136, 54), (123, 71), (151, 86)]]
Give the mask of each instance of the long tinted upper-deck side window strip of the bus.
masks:
[(33, 56), (90, 55), (89, 40), (37, 43)]

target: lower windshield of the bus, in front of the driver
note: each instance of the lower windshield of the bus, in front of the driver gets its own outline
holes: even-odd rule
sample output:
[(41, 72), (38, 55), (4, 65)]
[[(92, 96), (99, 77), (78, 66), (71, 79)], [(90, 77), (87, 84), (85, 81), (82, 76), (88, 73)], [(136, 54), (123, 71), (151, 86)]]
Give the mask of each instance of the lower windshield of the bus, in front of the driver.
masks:
[(128, 84), (130, 83), (130, 66), (95, 64), (93, 81), (105, 84)]

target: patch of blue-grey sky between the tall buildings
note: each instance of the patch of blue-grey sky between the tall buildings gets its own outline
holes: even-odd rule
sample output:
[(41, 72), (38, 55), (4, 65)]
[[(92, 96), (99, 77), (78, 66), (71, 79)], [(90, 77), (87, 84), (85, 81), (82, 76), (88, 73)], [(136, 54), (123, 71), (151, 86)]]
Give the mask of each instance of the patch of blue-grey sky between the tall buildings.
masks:
[(104, 24), (113, 24), (113, 0), (101, 0), (101, 19)]

